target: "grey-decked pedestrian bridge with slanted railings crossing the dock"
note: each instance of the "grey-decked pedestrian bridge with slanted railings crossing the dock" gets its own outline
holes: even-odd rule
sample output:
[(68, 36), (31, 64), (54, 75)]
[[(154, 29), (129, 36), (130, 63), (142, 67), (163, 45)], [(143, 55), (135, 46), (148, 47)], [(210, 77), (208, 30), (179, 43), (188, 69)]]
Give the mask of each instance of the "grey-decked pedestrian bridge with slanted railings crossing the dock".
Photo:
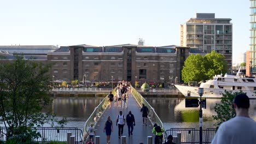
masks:
[[(115, 89), (112, 91), (112, 93), (115, 95)], [(101, 103), (97, 107), (95, 107), (94, 112), (92, 112), (91, 116), (85, 122), (83, 133), (82, 133), (83, 137), (85, 137), (85, 141), (86, 141), (86, 138), (88, 138), (87, 137), (88, 134), (86, 133), (86, 130), (90, 127), (91, 124), (94, 124), (96, 136), (100, 136), (100, 143), (107, 143), (107, 136), (105, 133), (103, 133), (103, 129), (104, 129), (104, 124), (107, 121), (107, 117), (110, 116), (113, 122), (113, 132), (110, 136), (110, 143), (121, 143), (121, 139), (118, 138), (118, 126), (116, 125), (117, 116), (119, 115), (119, 111), (123, 111), (123, 115), (125, 117), (129, 113), (129, 111), (131, 111), (135, 117), (136, 125), (135, 127), (133, 127), (133, 135), (131, 136), (128, 136), (127, 124), (124, 125), (123, 136), (126, 136), (126, 143), (140, 143), (140, 142), (147, 143), (147, 137), (153, 136), (152, 134), (153, 124), (157, 123), (161, 127), (163, 127), (163, 125), (160, 118), (155, 113), (153, 107), (149, 105), (149, 103), (141, 96), (141, 94), (139, 94), (136, 91), (135, 88), (132, 88), (132, 96), (133, 97), (129, 97), (129, 99), (127, 100), (127, 109), (114, 106), (114, 103), (112, 103), (112, 107), (110, 108), (108, 98), (105, 97), (101, 101)], [(142, 114), (141, 114), (142, 104), (145, 104), (149, 109), (147, 126), (143, 125), (143, 121), (142, 121)]]

